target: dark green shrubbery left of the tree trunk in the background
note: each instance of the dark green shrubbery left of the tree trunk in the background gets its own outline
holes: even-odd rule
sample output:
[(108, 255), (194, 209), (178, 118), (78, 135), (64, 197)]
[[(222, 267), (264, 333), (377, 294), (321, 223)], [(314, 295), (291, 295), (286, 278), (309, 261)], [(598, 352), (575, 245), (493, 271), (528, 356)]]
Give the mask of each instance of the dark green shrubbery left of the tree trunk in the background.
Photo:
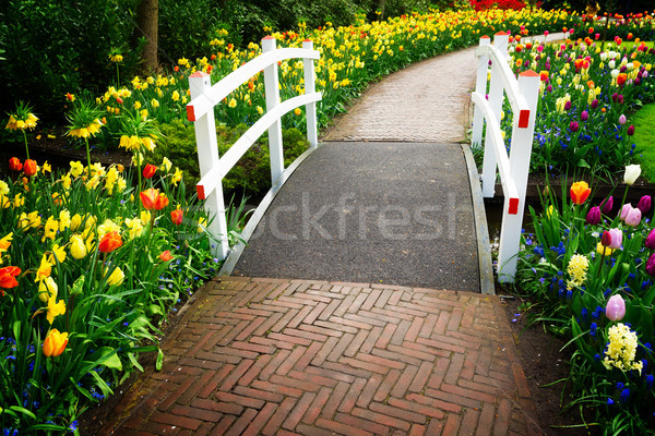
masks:
[[(106, 85), (116, 77), (108, 56), (119, 49), (123, 71), (134, 71), (130, 51), (136, 0), (7, 0), (0, 8), (1, 105), (28, 100), (41, 119), (58, 119), (66, 93)], [(8, 107), (0, 107), (7, 110)]]

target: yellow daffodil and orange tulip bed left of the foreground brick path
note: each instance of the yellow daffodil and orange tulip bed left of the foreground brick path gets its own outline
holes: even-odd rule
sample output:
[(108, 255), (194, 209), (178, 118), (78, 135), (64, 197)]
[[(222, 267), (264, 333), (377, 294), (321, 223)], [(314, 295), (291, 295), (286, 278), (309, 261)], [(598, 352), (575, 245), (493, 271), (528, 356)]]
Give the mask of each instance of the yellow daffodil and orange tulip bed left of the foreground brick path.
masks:
[[(170, 162), (131, 169), (10, 161), (0, 180), (0, 428), (76, 433), (158, 323), (218, 264), (207, 217)], [(159, 362), (162, 355), (159, 354)]]

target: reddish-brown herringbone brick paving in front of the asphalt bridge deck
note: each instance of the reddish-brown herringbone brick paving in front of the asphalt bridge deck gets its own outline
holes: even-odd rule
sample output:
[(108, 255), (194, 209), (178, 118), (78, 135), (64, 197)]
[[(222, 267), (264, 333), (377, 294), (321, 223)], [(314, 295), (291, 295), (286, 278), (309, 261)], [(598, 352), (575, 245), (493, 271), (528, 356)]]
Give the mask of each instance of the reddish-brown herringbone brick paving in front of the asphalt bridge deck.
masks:
[(497, 296), (224, 277), (104, 434), (532, 435)]

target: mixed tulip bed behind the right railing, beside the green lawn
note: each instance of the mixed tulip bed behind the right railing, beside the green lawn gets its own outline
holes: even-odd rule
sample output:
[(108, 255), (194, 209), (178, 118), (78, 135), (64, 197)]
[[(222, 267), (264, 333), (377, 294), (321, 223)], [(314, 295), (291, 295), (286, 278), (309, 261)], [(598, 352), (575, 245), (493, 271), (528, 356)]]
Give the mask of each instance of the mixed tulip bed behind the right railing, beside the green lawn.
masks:
[[(655, 29), (651, 17), (640, 23)], [(623, 34), (630, 35), (627, 28)], [(545, 45), (522, 43), (519, 35), (510, 47), (514, 71), (532, 69), (541, 78), (533, 171), (611, 177), (638, 158), (629, 120), (641, 105), (655, 100), (655, 49), (632, 36), (632, 44), (617, 36), (603, 47), (597, 37)], [(509, 104), (504, 110), (511, 112)], [(511, 117), (503, 114), (502, 126), (509, 140)]]

